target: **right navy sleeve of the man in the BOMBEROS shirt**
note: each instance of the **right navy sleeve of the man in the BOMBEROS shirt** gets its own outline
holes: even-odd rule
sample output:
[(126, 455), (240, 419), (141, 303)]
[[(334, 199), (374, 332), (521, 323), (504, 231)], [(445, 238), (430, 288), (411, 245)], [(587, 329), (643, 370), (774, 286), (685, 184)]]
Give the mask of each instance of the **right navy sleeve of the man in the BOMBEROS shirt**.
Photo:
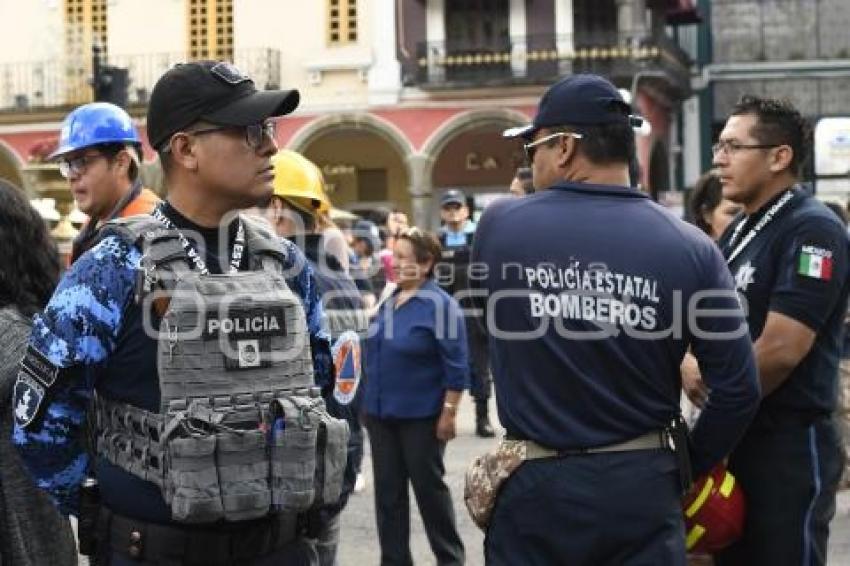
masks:
[(732, 274), (713, 244), (706, 246), (702, 263), (704, 298), (692, 303), (700, 311), (692, 310), (689, 330), (691, 350), (711, 393), (691, 433), (691, 463), (697, 476), (732, 451), (755, 416), (761, 396), (750, 333)]

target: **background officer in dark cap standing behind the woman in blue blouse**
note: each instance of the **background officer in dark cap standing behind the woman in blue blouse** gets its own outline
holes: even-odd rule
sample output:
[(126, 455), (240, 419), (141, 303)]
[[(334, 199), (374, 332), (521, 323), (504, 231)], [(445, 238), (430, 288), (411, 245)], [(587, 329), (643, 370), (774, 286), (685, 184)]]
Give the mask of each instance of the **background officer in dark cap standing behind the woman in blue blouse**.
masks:
[(488, 405), (492, 386), (487, 334), (483, 324), (470, 313), (473, 304), (468, 296), (469, 255), (475, 230), (474, 224), (469, 221), (466, 195), (457, 189), (446, 191), (440, 198), (440, 218), (443, 220), (439, 232), (443, 257), (435, 271), (437, 283), (467, 310), (464, 322), (470, 354), (470, 393), (475, 399), (475, 434), (481, 438), (492, 438), (495, 432), (490, 424)]

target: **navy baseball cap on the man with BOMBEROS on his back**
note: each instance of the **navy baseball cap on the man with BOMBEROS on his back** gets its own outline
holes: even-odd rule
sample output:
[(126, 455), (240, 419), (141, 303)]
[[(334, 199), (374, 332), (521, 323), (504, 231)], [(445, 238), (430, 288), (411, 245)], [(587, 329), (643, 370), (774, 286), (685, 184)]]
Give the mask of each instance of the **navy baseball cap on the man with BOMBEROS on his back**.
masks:
[(640, 121), (640, 118), (630, 113), (631, 106), (604, 77), (571, 75), (549, 87), (540, 99), (534, 122), (527, 126), (508, 128), (502, 135), (506, 138), (530, 139), (537, 130), (554, 126), (597, 126), (617, 122), (634, 126), (635, 120)]

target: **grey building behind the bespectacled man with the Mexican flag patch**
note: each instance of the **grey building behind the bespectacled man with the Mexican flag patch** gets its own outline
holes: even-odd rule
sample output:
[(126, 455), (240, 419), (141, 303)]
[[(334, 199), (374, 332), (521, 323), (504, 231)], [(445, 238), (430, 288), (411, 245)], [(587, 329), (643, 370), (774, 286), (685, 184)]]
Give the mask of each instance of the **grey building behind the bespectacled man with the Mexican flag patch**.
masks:
[(699, 70), (684, 104), (686, 183), (743, 94), (787, 98), (816, 127), (806, 176), (825, 199), (850, 196), (850, 12), (845, 0), (700, 0)]

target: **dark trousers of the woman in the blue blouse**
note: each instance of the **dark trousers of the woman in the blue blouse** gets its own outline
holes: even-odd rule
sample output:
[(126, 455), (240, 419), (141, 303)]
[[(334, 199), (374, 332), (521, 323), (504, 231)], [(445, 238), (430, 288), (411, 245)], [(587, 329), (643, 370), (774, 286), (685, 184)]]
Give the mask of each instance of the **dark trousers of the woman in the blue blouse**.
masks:
[(366, 417), (382, 565), (413, 564), (408, 481), (413, 485), (437, 564), (463, 564), (463, 542), (455, 523), (451, 493), (443, 481), (446, 443), (437, 439), (436, 427), (436, 418)]

